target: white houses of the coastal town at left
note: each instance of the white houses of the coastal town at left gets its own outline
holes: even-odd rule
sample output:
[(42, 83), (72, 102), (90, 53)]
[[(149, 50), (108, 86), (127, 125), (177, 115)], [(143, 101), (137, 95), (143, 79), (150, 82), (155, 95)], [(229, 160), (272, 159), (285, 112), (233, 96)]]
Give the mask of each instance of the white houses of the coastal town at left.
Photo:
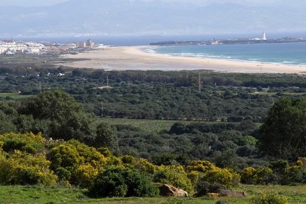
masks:
[(54, 42), (25, 42), (0, 40), (0, 55), (61, 53), (79, 47), (93, 47), (94, 43), (87, 42), (54, 43)]

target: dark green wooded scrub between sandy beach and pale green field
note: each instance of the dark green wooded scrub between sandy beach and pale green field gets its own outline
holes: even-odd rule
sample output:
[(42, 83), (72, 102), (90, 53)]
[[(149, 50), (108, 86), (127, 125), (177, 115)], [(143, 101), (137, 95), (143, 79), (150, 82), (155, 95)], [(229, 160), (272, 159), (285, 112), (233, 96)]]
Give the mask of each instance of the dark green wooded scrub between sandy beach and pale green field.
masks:
[[(1, 70), (0, 67), (0, 73)], [(103, 102), (105, 117), (232, 122), (247, 118), (263, 122), (273, 100), (287, 93), (302, 96), (306, 87), (303, 75), (202, 71), (199, 93), (197, 72), (65, 70), (61, 67), (40, 70), (24, 69), (25, 73), (20, 73), (4, 69), (6, 78), (0, 82), (0, 92), (19, 91), (21, 95), (28, 95), (38, 93), (39, 87), (58, 89), (71, 94), (95, 115), (101, 115)], [(35, 73), (39, 71), (40, 78), (37, 78)], [(50, 75), (46, 75), (48, 72)], [(66, 75), (58, 77), (59, 72)], [(107, 78), (109, 88), (105, 88)], [(267, 87), (273, 93), (260, 94)]]

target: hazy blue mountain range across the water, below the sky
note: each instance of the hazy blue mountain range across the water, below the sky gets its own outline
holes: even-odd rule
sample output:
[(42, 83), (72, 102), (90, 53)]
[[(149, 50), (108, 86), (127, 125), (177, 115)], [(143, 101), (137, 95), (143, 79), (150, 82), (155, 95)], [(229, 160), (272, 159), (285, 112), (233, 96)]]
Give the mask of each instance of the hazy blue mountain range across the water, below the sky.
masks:
[(0, 36), (154, 35), (306, 30), (306, 1), (163, 3), (70, 0), (47, 7), (0, 6)]

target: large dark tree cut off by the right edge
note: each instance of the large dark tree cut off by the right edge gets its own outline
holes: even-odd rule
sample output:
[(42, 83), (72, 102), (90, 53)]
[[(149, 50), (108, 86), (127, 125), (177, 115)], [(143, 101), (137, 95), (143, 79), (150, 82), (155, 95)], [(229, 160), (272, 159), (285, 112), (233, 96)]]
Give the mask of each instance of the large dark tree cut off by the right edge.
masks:
[(270, 109), (260, 128), (261, 149), (277, 159), (306, 156), (306, 101), (282, 98)]

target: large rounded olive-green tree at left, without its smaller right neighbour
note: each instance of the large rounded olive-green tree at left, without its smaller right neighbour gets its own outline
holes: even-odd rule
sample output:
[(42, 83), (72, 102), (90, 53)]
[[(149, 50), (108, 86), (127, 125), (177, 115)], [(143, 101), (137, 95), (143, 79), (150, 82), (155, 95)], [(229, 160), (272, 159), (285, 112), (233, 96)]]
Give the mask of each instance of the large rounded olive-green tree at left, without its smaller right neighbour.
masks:
[(96, 137), (96, 118), (86, 113), (68, 93), (59, 90), (44, 91), (23, 101), (20, 113), (49, 121), (49, 129), (44, 134), (54, 139), (88, 143)]

